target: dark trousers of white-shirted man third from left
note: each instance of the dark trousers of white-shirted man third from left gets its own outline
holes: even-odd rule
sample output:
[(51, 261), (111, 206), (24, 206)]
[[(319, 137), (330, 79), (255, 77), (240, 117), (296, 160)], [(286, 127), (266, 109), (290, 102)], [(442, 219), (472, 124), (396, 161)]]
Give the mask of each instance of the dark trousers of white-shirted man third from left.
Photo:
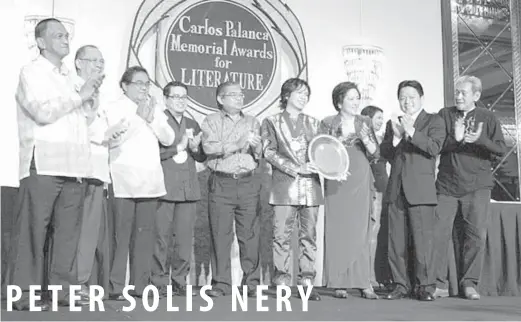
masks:
[(127, 257), (132, 294), (141, 295), (150, 283), (155, 241), (157, 198), (114, 198), (113, 258), (110, 293), (121, 294), (125, 287)]

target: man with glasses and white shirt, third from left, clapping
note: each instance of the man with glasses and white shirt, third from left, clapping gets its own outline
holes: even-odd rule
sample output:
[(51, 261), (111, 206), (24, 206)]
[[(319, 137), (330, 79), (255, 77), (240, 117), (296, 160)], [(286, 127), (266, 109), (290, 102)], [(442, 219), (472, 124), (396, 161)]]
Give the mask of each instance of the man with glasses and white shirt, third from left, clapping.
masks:
[[(175, 132), (164, 108), (149, 94), (146, 69), (129, 67), (121, 77), (123, 95), (106, 107), (110, 128), (125, 129), (110, 141), (109, 158), (114, 211), (113, 259), (109, 299), (125, 300), (127, 256), (130, 257), (129, 293), (142, 296), (150, 283), (158, 198), (166, 194), (159, 143), (169, 146)], [(115, 130), (117, 131), (117, 130)]]

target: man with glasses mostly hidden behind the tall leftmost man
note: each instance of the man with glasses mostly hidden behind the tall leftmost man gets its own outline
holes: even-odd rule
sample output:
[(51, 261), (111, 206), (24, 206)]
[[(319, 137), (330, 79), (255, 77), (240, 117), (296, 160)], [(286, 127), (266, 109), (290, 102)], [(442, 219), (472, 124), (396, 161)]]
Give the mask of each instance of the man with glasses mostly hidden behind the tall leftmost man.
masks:
[[(78, 74), (77, 88), (90, 77), (103, 77), (105, 61), (101, 51), (93, 45), (78, 49), (75, 57)], [(106, 189), (110, 184), (108, 133), (105, 112), (99, 108), (99, 93), (85, 104), (91, 149), (91, 173), (87, 178), (87, 193), (83, 204), (80, 242), (78, 244), (78, 282), (82, 285), (82, 295), (89, 295), (88, 285), (108, 287), (110, 270), (109, 232), (107, 219)], [(93, 266), (95, 265), (95, 266)], [(96, 268), (92, 274), (93, 268)]]

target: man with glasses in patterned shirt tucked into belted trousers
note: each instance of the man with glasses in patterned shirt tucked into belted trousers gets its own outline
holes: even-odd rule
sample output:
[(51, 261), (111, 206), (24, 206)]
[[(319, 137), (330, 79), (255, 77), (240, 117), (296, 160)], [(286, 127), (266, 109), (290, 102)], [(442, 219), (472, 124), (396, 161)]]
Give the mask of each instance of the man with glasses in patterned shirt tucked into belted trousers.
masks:
[(259, 218), (257, 207), (261, 180), (255, 169), (261, 157), (260, 123), (242, 112), (244, 94), (235, 82), (220, 84), (216, 90), (219, 112), (201, 124), (203, 148), (211, 170), (208, 181), (213, 240), (212, 297), (231, 292), (230, 252), (233, 223), (239, 241), (243, 284), (254, 296), (260, 283)]

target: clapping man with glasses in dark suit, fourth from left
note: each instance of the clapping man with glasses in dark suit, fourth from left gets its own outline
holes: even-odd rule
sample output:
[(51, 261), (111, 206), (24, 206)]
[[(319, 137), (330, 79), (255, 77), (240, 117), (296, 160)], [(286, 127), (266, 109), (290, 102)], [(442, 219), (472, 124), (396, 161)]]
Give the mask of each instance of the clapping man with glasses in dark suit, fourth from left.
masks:
[[(160, 198), (157, 211), (151, 277), (152, 283), (164, 291), (172, 270), (172, 289), (179, 295), (186, 295), (197, 201), (201, 199), (195, 161), (206, 160), (201, 146), (201, 128), (185, 115), (187, 93), (187, 86), (177, 81), (168, 83), (163, 89), (165, 114), (176, 135), (171, 146), (160, 147), (167, 194)], [(171, 246), (173, 254), (169, 253)]]

